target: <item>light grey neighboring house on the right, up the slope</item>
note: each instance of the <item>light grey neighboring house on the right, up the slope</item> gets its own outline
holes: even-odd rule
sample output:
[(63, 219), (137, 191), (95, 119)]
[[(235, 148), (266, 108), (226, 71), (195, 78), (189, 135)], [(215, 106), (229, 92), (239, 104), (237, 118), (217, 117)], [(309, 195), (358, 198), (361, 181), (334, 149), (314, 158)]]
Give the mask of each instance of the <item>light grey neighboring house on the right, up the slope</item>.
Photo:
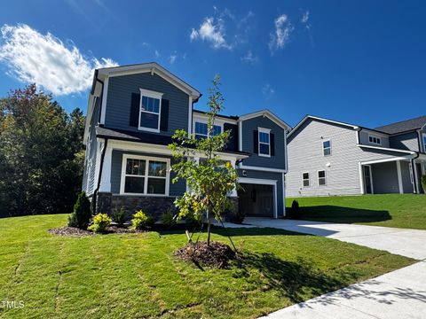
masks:
[(288, 197), (422, 193), (426, 116), (363, 128), (307, 115), (288, 134)]

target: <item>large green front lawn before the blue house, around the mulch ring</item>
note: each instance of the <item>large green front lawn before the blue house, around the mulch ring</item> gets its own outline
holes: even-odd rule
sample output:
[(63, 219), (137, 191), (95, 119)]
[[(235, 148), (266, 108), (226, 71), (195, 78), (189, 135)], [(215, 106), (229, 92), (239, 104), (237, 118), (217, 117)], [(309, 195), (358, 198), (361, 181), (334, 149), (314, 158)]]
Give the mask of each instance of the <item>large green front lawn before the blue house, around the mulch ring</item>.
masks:
[[(0, 317), (254, 318), (414, 260), (284, 230), (214, 230), (243, 245), (227, 269), (177, 261), (183, 232), (55, 237), (67, 216), (0, 219)], [(204, 236), (203, 234), (202, 236)]]

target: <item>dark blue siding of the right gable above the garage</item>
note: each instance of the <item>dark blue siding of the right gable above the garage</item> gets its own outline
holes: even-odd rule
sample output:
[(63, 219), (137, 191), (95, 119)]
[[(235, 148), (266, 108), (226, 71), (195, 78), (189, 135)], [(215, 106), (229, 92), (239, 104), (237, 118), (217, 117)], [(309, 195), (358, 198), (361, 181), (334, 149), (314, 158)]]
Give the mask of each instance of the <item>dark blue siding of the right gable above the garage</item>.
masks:
[[(250, 153), (248, 159), (243, 160), (244, 166), (266, 167), (266, 168), (286, 168), (286, 148), (284, 144), (284, 128), (271, 121), (265, 116), (241, 121), (242, 124), (242, 152)], [(269, 157), (259, 156), (254, 153), (253, 132), (258, 128), (270, 128), (274, 135), (275, 155)]]

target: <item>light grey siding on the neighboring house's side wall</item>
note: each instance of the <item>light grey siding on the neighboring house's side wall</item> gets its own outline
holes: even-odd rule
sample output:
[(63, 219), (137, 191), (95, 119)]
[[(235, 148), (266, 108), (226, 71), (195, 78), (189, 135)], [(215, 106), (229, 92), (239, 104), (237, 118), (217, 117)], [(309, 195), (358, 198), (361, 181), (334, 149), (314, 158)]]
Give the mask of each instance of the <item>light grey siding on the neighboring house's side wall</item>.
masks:
[[(357, 132), (350, 127), (308, 119), (288, 136), (287, 197), (356, 195), (361, 193), (359, 162), (400, 156), (357, 146)], [(330, 140), (331, 155), (324, 156), (322, 141)], [(319, 186), (318, 171), (326, 171), (326, 185)], [(309, 187), (302, 174), (309, 173)]]

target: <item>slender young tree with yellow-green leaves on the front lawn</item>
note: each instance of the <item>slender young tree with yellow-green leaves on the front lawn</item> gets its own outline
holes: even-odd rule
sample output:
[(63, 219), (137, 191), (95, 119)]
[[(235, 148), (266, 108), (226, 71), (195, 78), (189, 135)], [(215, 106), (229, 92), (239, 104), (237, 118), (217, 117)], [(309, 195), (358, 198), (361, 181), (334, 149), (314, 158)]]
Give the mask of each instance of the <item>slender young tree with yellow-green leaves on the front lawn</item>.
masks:
[(177, 198), (175, 205), (179, 208), (179, 217), (194, 214), (196, 217), (205, 216), (208, 224), (207, 245), (210, 243), (210, 218), (219, 221), (226, 209), (233, 209), (229, 193), (237, 187), (238, 175), (230, 162), (220, 159), (218, 152), (225, 149), (230, 132), (214, 134), (217, 113), (224, 109), (224, 97), (219, 90), (220, 76), (217, 74), (213, 86), (209, 89), (208, 136), (195, 138), (194, 135), (182, 129), (173, 136), (174, 142), (169, 145), (176, 159), (172, 171), (176, 173), (173, 179), (185, 179), (188, 191)]

